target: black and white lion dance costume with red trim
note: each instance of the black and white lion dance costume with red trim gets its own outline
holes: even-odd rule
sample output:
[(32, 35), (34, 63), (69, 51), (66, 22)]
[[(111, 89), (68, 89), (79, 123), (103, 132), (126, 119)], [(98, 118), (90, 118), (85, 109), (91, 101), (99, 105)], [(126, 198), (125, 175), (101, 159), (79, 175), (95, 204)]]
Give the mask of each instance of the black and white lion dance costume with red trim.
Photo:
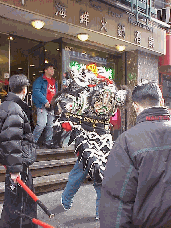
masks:
[(68, 145), (75, 142), (79, 162), (83, 162), (83, 168), (88, 168), (89, 175), (98, 183), (103, 179), (113, 147), (110, 116), (116, 107), (124, 105), (127, 94), (127, 90), (118, 90), (103, 72), (94, 74), (81, 68), (66, 73), (65, 88), (52, 101), (60, 112), (54, 128), (69, 133)]

